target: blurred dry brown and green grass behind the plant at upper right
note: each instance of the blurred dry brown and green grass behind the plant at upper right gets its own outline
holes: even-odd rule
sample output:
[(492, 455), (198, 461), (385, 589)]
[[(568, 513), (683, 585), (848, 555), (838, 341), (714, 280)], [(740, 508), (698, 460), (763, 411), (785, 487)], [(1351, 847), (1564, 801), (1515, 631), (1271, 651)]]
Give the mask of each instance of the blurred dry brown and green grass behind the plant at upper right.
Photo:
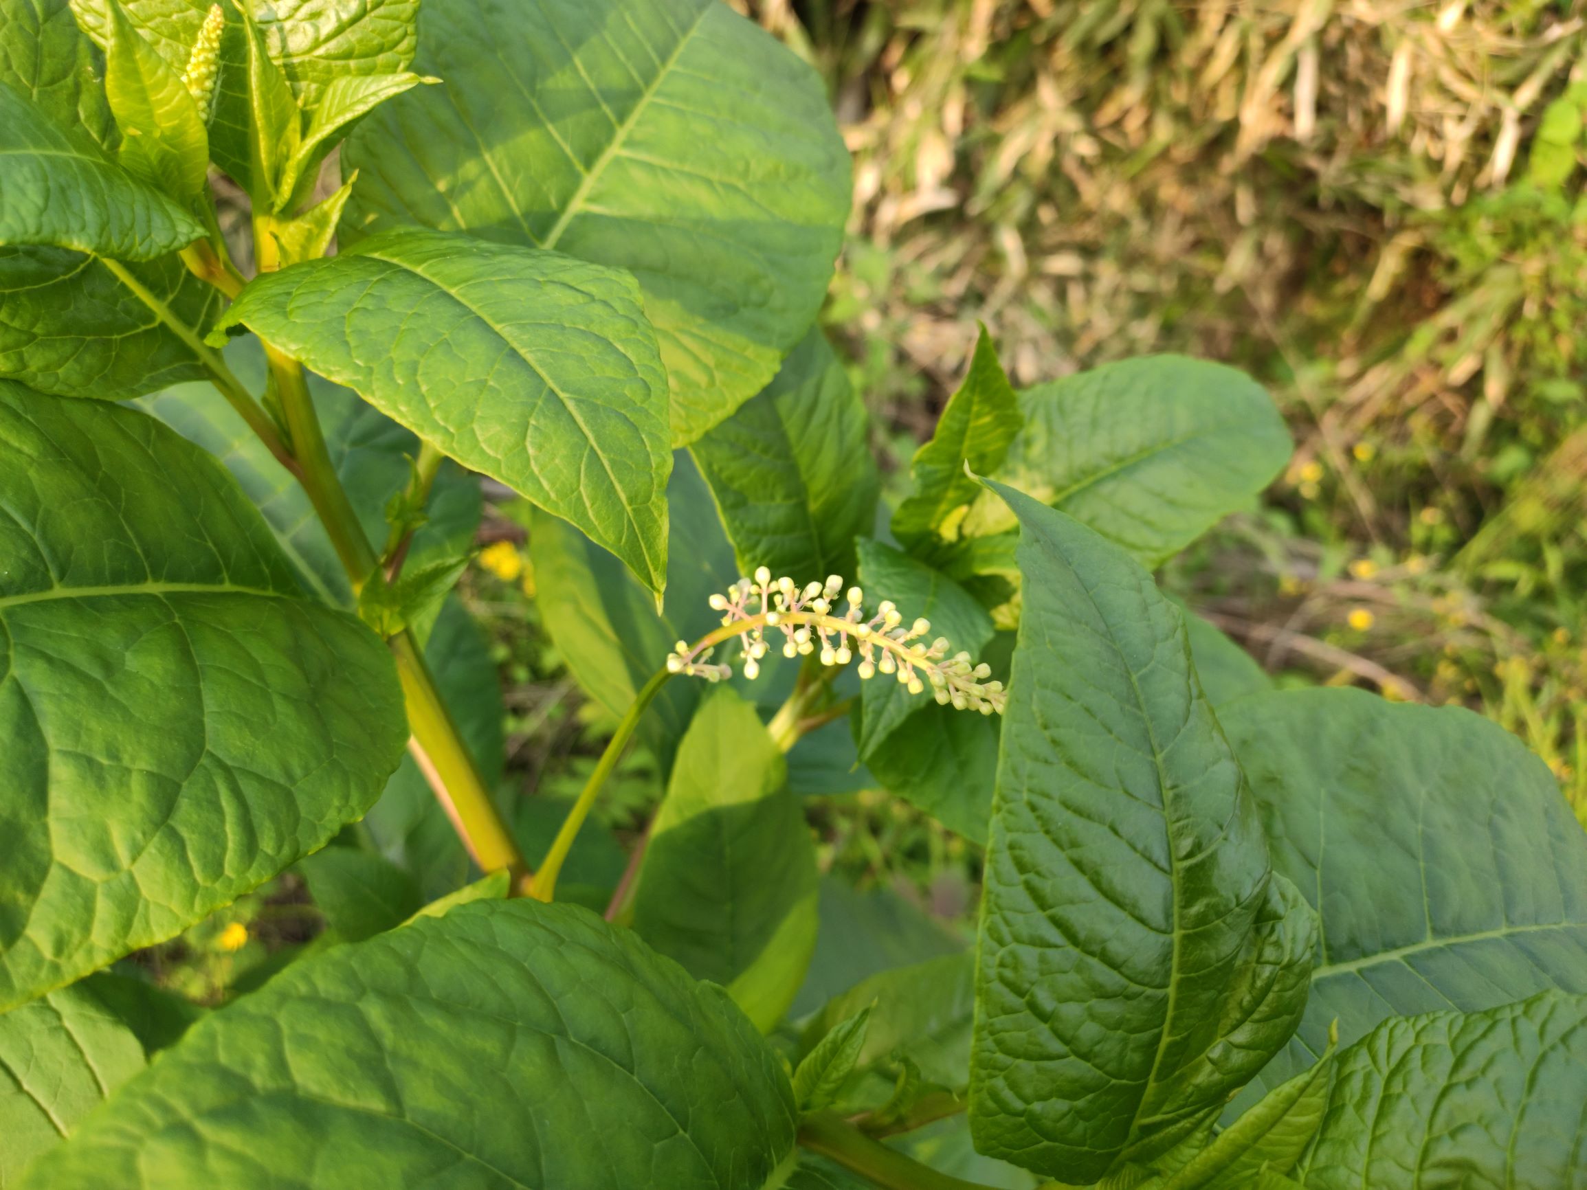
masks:
[(1587, 816), (1587, 6), (732, 0), (828, 81), (827, 321), (895, 476), (974, 341), (1155, 351), (1297, 436), (1166, 573), (1276, 671), (1466, 703)]

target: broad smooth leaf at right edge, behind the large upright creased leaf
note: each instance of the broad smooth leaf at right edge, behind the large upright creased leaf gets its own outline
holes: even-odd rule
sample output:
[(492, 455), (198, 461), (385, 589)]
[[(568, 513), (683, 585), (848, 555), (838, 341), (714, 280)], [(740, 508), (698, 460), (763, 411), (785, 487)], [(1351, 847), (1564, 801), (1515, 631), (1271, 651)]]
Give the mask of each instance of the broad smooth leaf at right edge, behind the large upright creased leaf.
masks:
[(1587, 835), (1497, 724), (1362, 690), (1220, 711), (1273, 852), (1320, 917), (1311, 1001), (1262, 1082), (1390, 1015), (1587, 992)]

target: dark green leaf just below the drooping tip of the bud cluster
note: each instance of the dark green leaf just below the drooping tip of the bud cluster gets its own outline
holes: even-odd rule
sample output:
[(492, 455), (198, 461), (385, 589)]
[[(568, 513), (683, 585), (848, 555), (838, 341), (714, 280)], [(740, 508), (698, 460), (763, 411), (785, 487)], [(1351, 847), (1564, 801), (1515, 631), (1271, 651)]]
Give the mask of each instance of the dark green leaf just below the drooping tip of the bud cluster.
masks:
[(1001, 716), (930, 703), (890, 731), (865, 763), (889, 793), (984, 846), (1001, 727)]

